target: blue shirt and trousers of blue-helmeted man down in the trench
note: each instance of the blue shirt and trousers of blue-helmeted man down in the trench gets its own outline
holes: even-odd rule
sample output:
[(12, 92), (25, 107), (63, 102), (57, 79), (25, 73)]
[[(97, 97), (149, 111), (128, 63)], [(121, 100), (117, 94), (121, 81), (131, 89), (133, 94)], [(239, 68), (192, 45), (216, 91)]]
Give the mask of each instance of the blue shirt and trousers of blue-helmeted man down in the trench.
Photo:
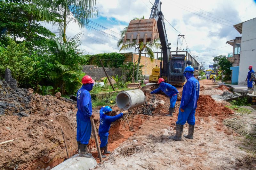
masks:
[(108, 144), (108, 131), (110, 129), (110, 124), (115, 122), (117, 119), (123, 117), (123, 113), (120, 113), (116, 116), (108, 116), (103, 112), (104, 107), (100, 109), (100, 127), (99, 127), (99, 136), (100, 136), (100, 148), (103, 148)]

